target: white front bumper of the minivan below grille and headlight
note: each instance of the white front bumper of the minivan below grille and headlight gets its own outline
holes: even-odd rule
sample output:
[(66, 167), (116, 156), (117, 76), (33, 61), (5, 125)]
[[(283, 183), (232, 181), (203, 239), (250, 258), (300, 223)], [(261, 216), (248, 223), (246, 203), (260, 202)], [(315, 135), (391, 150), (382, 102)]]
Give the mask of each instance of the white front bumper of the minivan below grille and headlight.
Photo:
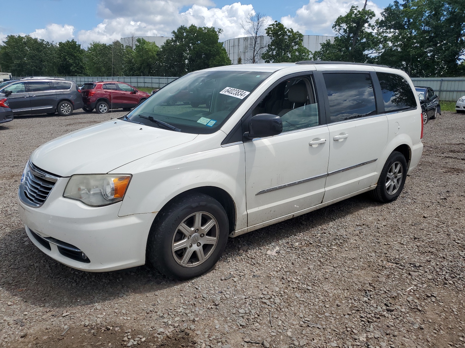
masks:
[[(121, 203), (90, 207), (64, 198), (67, 181), (60, 178), (39, 208), (27, 206), (18, 196), (20, 217), (33, 244), (58, 262), (82, 271), (115, 271), (145, 264), (147, 237), (155, 214), (118, 217)], [(41, 243), (33, 232), (42, 239), (74, 246), (88, 260), (78, 261), (59, 245)]]

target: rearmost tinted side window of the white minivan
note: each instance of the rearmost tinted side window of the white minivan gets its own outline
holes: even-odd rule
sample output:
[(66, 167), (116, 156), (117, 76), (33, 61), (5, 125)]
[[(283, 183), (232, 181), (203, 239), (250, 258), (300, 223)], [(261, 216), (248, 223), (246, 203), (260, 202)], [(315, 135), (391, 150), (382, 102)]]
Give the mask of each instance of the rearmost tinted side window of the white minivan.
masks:
[(404, 77), (387, 72), (377, 72), (376, 75), (383, 92), (385, 112), (417, 107), (412, 88)]

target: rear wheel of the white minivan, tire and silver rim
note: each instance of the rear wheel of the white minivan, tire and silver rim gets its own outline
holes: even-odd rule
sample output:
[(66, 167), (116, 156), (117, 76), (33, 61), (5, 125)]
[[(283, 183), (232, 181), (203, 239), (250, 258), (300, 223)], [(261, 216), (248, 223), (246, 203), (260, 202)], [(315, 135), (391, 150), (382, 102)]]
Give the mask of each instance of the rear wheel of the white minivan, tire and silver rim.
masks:
[(398, 151), (392, 151), (379, 175), (378, 185), (370, 191), (372, 198), (381, 203), (395, 200), (404, 188), (406, 177), (407, 161), (404, 155)]

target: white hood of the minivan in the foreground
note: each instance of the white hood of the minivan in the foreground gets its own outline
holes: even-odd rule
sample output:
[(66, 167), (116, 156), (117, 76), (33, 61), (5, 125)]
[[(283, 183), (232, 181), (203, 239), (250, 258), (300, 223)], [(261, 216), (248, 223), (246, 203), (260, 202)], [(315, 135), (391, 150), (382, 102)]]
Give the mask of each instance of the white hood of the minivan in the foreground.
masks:
[(196, 136), (115, 119), (46, 142), (32, 153), (31, 161), (59, 176), (105, 174)]

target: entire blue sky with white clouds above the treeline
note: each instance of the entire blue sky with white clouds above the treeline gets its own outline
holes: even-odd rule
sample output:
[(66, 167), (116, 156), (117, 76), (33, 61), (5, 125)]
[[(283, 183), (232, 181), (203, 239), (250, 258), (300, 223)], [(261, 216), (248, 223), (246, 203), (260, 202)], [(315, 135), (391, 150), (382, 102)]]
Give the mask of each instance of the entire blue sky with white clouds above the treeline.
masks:
[[(391, 1), (370, 0), (377, 14)], [(9, 34), (41, 39), (111, 42), (129, 33), (170, 35), (177, 26), (196, 24), (224, 30), (221, 39), (242, 36), (240, 21), (260, 12), (304, 34), (331, 35), (331, 25), (363, 0), (15, 0), (2, 2), (0, 40)]]

